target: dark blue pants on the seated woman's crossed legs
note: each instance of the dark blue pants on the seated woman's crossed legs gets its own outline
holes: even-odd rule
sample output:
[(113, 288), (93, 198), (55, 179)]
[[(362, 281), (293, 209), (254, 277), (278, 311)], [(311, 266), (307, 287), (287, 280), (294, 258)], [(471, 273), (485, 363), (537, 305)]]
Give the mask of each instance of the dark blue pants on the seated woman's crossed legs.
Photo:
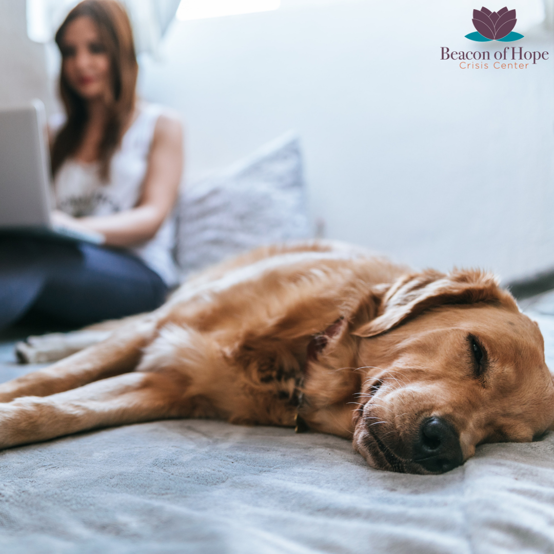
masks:
[(124, 250), (0, 237), (0, 329), (29, 310), (83, 326), (150, 311), (167, 286)]

